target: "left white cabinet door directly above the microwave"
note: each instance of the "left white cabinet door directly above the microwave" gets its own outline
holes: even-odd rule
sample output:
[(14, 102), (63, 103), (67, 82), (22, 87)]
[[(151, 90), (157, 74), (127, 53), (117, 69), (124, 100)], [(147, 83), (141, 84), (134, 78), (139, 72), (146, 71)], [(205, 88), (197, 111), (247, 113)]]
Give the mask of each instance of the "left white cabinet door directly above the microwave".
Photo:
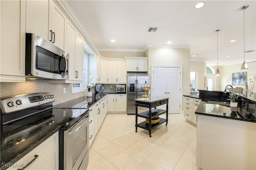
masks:
[(26, 1), (26, 32), (48, 40), (49, 38), (49, 0)]

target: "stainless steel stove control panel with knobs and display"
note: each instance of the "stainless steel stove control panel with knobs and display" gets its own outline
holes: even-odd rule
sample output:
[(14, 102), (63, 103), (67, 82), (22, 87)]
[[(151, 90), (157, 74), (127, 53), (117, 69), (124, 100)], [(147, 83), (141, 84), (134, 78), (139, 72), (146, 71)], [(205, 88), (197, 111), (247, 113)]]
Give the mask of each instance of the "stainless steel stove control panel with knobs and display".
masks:
[(8, 114), (54, 101), (55, 98), (52, 93), (32, 93), (5, 97), (1, 99), (1, 113)]

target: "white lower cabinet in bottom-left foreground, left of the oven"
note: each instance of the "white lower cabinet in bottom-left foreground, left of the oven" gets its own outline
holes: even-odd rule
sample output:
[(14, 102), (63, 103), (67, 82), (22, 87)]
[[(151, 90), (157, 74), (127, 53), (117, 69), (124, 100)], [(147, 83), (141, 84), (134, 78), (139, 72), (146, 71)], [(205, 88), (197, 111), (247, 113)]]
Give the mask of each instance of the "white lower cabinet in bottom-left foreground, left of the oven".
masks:
[[(37, 156), (38, 155), (38, 156)], [(36, 158), (37, 157), (37, 158)], [(8, 170), (17, 170), (17, 166), (26, 166), (36, 158), (27, 169), (30, 170), (58, 170), (59, 169), (59, 133), (56, 132), (42, 144), (34, 148), (23, 158), (14, 163)], [(15, 165), (17, 165), (15, 167)], [(22, 169), (22, 167), (18, 167)]]

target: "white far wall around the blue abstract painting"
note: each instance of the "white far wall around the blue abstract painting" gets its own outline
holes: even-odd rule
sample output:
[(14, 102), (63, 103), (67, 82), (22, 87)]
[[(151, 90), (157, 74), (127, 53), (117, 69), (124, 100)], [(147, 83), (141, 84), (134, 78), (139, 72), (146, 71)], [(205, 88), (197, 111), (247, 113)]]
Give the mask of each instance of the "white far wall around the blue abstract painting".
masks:
[[(220, 70), (220, 77), (217, 78), (217, 90), (224, 90), (224, 88), (227, 85), (226, 76), (228, 76), (229, 84), (232, 85), (232, 79), (231, 75), (232, 73), (238, 73), (238, 72), (246, 72), (246, 83), (248, 83), (248, 91), (256, 93), (256, 61), (247, 63), (248, 70), (241, 70), (242, 62), (235, 65), (228, 65), (219, 67)], [(249, 75), (252, 74), (252, 88), (250, 85)], [(234, 86), (238, 87), (238, 86)], [(245, 91), (245, 86), (243, 86)]]

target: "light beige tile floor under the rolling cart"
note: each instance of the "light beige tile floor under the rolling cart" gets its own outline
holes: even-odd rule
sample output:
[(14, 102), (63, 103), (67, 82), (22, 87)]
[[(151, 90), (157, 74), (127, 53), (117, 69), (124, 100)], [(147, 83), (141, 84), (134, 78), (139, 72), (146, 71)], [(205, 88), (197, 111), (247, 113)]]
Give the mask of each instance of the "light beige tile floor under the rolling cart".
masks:
[(87, 170), (93, 169), (198, 170), (196, 127), (183, 114), (169, 114), (168, 125), (154, 128), (150, 138), (148, 130), (135, 132), (135, 115), (108, 114), (90, 146)]

